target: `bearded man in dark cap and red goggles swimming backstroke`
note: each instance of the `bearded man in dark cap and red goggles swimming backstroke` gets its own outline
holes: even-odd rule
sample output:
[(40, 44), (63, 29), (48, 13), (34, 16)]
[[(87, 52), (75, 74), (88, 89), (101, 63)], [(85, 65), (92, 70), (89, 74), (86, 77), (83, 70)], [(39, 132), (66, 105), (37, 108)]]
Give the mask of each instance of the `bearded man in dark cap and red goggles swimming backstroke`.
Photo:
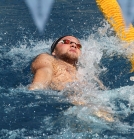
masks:
[(62, 36), (51, 46), (51, 55), (42, 53), (32, 63), (34, 74), (30, 90), (62, 90), (77, 80), (77, 61), (81, 54), (80, 41), (74, 36)]

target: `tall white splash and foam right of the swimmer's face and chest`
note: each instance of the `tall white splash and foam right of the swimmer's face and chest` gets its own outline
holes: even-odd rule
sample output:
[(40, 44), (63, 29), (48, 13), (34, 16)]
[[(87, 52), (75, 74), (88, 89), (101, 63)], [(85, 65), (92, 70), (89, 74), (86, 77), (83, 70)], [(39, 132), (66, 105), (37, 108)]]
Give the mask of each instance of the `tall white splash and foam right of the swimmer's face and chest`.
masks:
[[(103, 28), (100, 29), (103, 30)], [(99, 35), (102, 34), (100, 33)], [(109, 57), (115, 54), (127, 57), (131, 54), (130, 46), (132, 46), (132, 44), (129, 44), (129, 48), (125, 48), (124, 46), (127, 44), (120, 42), (116, 36), (108, 37), (105, 35), (96, 39), (96, 34), (89, 36), (86, 40), (81, 40), (81, 42), (84, 47), (82, 50), (83, 55), (79, 59), (81, 66), (79, 74), (81, 76), (79, 75), (78, 77), (80, 82), (68, 85), (63, 93), (74, 91), (73, 95), (75, 95), (75, 98), (73, 97), (71, 101), (73, 102), (74, 99), (76, 102), (83, 101), (86, 103), (86, 106), (74, 106), (68, 109), (65, 115), (73, 114), (81, 120), (88, 122), (91, 126), (91, 123), (93, 123), (93, 125), (97, 123), (95, 127), (97, 128), (99, 126), (100, 130), (105, 128), (112, 130), (117, 129), (119, 133), (122, 131), (126, 133), (132, 132), (134, 126), (121, 122), (121, 118), (125, 119), (133, 114), (134, 86), (102, 91), (98, 90), (93, 82), (94, 76), (97, 76), (102, 70), (106, 70), (105, 68), (100, 69), (98, 66), (104, 52), (105, 55)], [(81, 94), (78, 94), (78, 92), (81, 92)], [(70, 95), (72, 95), (72, 93), (70, 93)], [(117, 100), (120, 100), (118, 102), (119, 105), (115, 103)], [(127, 102), (127, 104), (125, 104), (125, 102)], [(88, 107), (88, 105), (91, 105), (91, 107)], [(114, 118), (114, 125), (111, 123), (108, 126), (108, 121), (103, 121), (92, 115), (96, 109), (99, 110), (100, 108), (106, 109), (113, 117), (116, 117)], [(100, 126), (101, 124), (103, 126)]]

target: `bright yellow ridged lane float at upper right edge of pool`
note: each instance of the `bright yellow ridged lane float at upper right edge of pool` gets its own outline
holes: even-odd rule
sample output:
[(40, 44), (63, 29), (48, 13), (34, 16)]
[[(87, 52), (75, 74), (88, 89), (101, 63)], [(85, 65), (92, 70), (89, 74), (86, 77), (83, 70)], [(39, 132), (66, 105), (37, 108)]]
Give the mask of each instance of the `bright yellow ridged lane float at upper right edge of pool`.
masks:
[[(134, 41), (134, 27), (130, 24), (129, 28), (126, 28), (122, 10), (117, 0), (96, 0), (96, 2), (107, 21), (117, 33), (117, 36), (124, 42), (132, 43)], [(131, 72), (133, 72), (134, 54), (132, 53), (128, 58), (132, 64)]]

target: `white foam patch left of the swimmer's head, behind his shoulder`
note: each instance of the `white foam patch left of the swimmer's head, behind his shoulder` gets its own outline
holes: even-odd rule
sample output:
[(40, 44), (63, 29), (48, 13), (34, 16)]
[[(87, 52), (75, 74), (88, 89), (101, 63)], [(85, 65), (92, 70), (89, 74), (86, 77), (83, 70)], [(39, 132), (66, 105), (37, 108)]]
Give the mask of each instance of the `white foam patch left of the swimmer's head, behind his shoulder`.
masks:
[(29, 41), (29, 44), (19, 43), (17, 46), (11, 48), (9, 52), (7, 52), (4, 57), (12, 60), (12, 67), (21, 67), (28, 64), (33, 58), (35, 58), (38, 54), (49, 52), (50, 44), (52, 44), (52, 40), (48, 41), (39, 41), (33, 42)]

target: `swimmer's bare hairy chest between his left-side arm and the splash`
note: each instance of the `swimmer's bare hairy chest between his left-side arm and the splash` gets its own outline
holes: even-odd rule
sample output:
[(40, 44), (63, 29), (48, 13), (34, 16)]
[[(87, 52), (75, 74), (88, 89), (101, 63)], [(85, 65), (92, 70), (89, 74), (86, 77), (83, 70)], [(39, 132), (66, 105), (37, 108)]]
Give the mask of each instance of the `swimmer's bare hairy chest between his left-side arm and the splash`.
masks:
[(76, 68), (72, 65), (55, 59), (52, 62), (53, 76), (50, 88), (54, 90), (62, 90), (67, 83), (76, 80)]

